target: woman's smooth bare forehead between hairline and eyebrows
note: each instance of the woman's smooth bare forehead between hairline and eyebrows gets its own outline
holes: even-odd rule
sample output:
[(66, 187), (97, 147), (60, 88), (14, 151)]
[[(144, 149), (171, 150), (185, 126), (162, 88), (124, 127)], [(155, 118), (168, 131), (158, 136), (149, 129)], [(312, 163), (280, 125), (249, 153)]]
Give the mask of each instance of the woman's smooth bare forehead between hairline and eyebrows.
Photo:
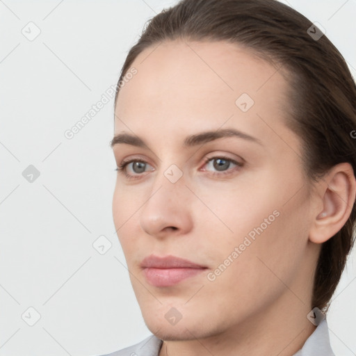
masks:
[(229, 121), (260, 138), (268, 124), (289, 134), (282, 127), (288, 83), (277, 67), (236, 44), (161, 42), (131, 67), (137, 74), (118, 95), (115, 115), (122, 121), (115, 120), (116, 133), (127, 131), (124, 123), (133, 131), (142, 132), (144, 124), (187, 133)]

